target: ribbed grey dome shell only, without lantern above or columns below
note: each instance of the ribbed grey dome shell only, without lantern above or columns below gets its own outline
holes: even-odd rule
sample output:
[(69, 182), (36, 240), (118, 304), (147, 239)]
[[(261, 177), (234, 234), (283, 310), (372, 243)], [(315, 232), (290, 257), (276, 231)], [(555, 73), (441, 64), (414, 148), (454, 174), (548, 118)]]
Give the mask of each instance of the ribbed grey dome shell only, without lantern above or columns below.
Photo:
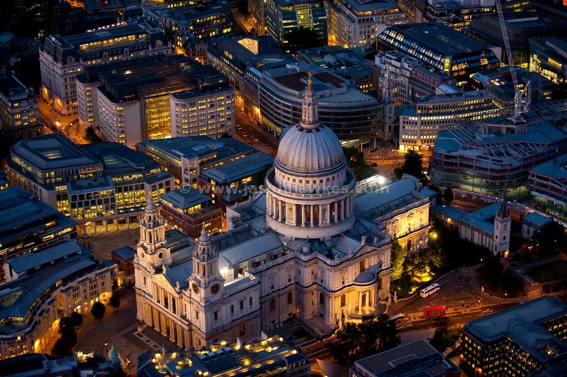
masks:
[(341, 142), (331, 128), (324, 125), (306, 128), (300, 124), (282, 138), (276, 163), (294, 172), (319, 173), (342, 168), (346, 160)]

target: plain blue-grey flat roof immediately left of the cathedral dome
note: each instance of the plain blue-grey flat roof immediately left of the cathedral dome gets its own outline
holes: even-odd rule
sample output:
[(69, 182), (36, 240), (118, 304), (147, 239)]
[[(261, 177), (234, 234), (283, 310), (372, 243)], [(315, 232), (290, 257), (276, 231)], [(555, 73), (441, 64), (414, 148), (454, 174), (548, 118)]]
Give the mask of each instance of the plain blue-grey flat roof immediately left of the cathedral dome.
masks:
[(238, 179), (259, 172), (266, 165), (272, 165), (274, 157), (264, 152), (238, 158), (238, 160), (211, 168), (202, 172), (201, 175), (207, 179), (213, 179), (217, 183), (232, 183)]

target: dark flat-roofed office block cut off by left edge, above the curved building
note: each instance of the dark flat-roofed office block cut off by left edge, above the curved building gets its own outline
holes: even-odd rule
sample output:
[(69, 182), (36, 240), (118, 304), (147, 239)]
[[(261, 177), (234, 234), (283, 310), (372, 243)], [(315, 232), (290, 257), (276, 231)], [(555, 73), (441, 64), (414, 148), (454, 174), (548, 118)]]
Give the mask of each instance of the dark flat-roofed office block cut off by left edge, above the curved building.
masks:
[[(77, 223), (22, 187), (0, 190), (0, 263), (77, 238)], [(5, 282), (0, 269), (0, 284)]]

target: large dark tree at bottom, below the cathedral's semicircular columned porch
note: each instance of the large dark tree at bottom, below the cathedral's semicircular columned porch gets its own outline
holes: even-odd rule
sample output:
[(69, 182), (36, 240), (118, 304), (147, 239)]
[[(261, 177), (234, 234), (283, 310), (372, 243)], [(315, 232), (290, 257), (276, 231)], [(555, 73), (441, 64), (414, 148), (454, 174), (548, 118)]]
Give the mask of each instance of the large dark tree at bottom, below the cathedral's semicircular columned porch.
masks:
[(341, 365), (352, 365), (358, 359), (400, 344), (396, 323), (385, 314), (363, 316), (362, 322), (346, 322), (336, 333), (337, 341), (329, 344), (331, 354)]

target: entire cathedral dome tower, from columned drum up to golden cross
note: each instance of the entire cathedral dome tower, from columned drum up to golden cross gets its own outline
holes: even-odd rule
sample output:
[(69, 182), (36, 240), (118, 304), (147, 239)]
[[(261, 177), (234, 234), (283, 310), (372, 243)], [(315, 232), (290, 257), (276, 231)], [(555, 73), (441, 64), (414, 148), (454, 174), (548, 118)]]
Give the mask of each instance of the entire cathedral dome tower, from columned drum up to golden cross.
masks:
[(331, 237), (354, 222), (356, 178), (337, 136), (319, 122), (311, 76), (302, 108), (266, 175), (266, 223), (289, 237)]

